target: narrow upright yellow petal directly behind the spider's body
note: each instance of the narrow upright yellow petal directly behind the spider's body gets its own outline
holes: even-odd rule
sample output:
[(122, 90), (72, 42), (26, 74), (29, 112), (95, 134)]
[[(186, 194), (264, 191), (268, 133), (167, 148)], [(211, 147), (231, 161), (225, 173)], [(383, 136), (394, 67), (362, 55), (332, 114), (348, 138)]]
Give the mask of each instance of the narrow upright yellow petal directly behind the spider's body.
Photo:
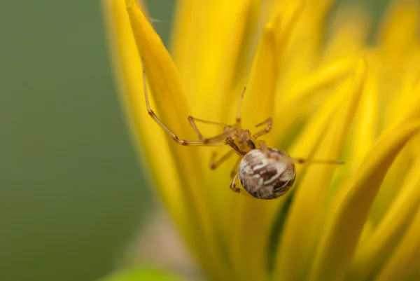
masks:
[[(264, 36), (260, 41), (251, 69), (248, 88), (244, 96), (241, 110), (241, 120), (244, 128), (254, 128), (272, 116), (274, 109), (274, 90), (276, 88), (276, 38), (274, 29), (269, 24), (265, 27)], [(247, 196), (236, 198), (237, 220), (236, 229), (232, 229), (235, 239), (234, 262), (241, 280), (264, 280), (267, 275), (267, 244), (269, 230), (274, 212), (267, 212), (268, 205), (274, 202), (262, 202)]]

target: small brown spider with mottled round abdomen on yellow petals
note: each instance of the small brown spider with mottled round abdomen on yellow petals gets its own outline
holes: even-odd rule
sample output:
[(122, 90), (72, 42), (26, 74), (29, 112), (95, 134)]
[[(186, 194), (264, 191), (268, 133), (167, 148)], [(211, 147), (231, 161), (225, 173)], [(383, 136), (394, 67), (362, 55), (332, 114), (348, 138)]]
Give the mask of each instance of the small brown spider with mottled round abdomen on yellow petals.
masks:
[[(268, 117), (265, 121), (255, 125), (256, 128), (265, 125), (265, 128), (258, 130), (251, 134), (249, 130), (241, 128), (241, 103), (244, 98), (246, 87), (241, 93), (239, 104), (237, 108), (236, 122), (234, 125), (225, 123), (206, 121), (199, 118), (188, 116), (188, 121), (197, 134), (198, 141), (179, 139), (172, 130), (170, 130), (151, 109), (148, 101), (148, 90), (146, 85), (146, 69), (143, 63), (143, 86), (144, 97), (146, 99), (146, 107), (148, 114), (153, 120), (160, 125), (160, 127), (167, 132), (168, 135), (174, 139), (174, 142), (183, 146), (218, 146), (228, 145), (232, 148), (228, 153), (216, 160), (216, 152), (211, 156), (210, 168), (216, 169), (225, 160), (237, 154), (239, 156), (233, 170), (230, 174), (232, 182), (230, 189), (237, 193), (241, 189), (237, 187), (237, 181), (241, 182), (243, 189), (258, 199), (276, 199), (283, 196), (295, 182), (296, 171), (295, 163), (329, 163), (329, 164), (344, 164), (342, 161), (330, 160), (307, 160), (304, 158), (290, 158), (284, 151), (270, 148), (265, 141), (258, 139), (263, 135), (269, 133), (272, 128), (272, 118)], [(219, 125), (223, 127), (223, 132), (215, 137), (203, 137), (200, 130), (198, 130), (196, 122), (206, 123), (211, 125)]]

